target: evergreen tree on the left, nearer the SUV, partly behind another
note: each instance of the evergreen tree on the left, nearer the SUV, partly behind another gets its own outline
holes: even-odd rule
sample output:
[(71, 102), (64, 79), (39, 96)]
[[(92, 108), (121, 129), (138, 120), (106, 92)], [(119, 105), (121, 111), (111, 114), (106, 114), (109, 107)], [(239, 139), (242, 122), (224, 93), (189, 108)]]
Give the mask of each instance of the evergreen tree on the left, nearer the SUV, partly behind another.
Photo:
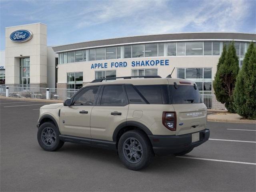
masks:
[[(228, 46), (228, 50), (224, 55), (224, 61), (221, 58), (222, 64), (217, 68), (214, 91), (216, 99), (222, 104), (225, 103), (225, 107), (228, 112), (235, 112), (233, 106), (233, 91), (236, 83), (236, 76), (239, 71), (238, 57), (236, 56), (236, 48), (234, 42)], [(219, 60), (220, 62), (220, 60)]]

